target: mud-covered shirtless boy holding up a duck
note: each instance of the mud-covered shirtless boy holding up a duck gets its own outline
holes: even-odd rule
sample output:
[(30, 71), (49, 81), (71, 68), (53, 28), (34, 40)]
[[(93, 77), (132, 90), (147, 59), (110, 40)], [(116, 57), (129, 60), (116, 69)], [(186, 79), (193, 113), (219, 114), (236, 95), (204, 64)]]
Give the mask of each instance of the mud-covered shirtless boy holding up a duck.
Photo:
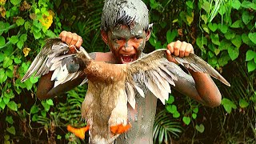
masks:
[[(109, 0), (105, 2), (102, 12), (102, 40), (110, 47), (107, 53), (92, 53), (90, 56), (96, 61), (110, 63), (129, 63), (138, 59), (150, 38), (148, 10), (141, 0)], [(78, 34), (62, 31), (59, 35), (62, 42), (74, 46), (82, 45), (82, 38)], [(166, 54), (170, 62), (175, 62), (171, 54), (180, 58), (194, 53), (193, 46), (186, 42), (171, 42), (167, 46)], [(176, 62), (177, 63), (177, 62)], [(208, 74), (195, 73), (189, 70), (192, 77), (182, 70), (174, 70), (178, 76), (173, 88), (206, 106), (219, 106), (221, 94)], [(42, 76), (38, 86), (38, 98), (51, 98), (63, 89), (78, 86), (81, 79), (77, 78), (59, 88), (52, 89), (50, 82), (52, 73)], [(128, 120), (132, 128), (116, 140), (117, 143), (153, 143), (154, 115), (157, 98), (148, 92), (145, 98), (136, 97), (135, 110), (128, 106)]]

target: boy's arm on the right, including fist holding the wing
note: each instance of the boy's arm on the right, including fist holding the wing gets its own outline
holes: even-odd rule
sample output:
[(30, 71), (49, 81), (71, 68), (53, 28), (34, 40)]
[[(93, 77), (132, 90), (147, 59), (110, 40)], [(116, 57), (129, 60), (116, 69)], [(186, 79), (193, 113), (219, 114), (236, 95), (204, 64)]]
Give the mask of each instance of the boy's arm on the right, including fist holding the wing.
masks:
[[(167, 46), (166, 53), (167, 59), (170, 62), (177, 63), (171, 54), (178, 57), (186, 57), (190, 53), (194, 53), (194, 48), (190, 43), (186, 42), (171, 42)], [(182, 70), (174, 70), (178, 76), (178, 82), (175, 82), (175, 90), (190, 98), (194, 98), (198, 102), (210, 107), (219, 106), (221, 103), (222, 95), (214, 81), (210, 78), (209, 74), (203, 74), (189, 70), (189, 76)]]

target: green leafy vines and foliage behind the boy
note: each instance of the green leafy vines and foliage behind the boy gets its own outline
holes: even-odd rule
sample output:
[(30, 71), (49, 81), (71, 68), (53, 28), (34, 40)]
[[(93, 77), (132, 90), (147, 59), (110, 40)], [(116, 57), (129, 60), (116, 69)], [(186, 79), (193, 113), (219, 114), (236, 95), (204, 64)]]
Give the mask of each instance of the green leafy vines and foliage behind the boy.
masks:
[[(209, 62), (230, 87), (216, 108), (173, 91), (158, 102), (155, 143), (256, 142), (256, 0), (144, 0), (154, 23), (146, 52), (181, 40)], [(108, 51), (100, 35), (102, 0), (0, 0), (0, 142), (85, 143), (66, 126), (85, 126), (80, 108), (86, 85), (45, 101), (38, 78), (22, 76), (46, 38), (62, 30), (81, 35), (87, 51)], [(86, 135), (88, 136), (88, 135)]]

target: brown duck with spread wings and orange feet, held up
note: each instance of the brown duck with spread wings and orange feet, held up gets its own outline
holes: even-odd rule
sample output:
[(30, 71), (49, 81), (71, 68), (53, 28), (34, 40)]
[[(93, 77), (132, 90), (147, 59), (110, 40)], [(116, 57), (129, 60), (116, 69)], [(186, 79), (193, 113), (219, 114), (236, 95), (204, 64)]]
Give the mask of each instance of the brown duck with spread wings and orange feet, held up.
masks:
[[(173, 57), (178, 64), (210, 74), (230, 86), (217, 70), (197, 55)], [(176, 63), (166, 59), (166, 49), (154, 50), (127, 64), (111, 64), (94, 61), (82, 46), (75, 54), (69, 54), (69, 46), (60, 38), (49, 38), (21, 81), (25, 82), (34, 73), (37, 77), (53, 71), (51, 81), (56, 87), (86, 75), (81, 82), (88, 82), (81, 113), (87, 126), (81, 129), (67, 126), (67, 130), (82, 139), (89, 130), (90, 143), (113, 143), (120, 134), (132, 128), (128, 122), (127, 104), (135, 109), (135, 95), (145, 97), (146, 90), (165, 104), (171, 93), (170, 86), (178, 81), (172, 69), (178, 68)]]

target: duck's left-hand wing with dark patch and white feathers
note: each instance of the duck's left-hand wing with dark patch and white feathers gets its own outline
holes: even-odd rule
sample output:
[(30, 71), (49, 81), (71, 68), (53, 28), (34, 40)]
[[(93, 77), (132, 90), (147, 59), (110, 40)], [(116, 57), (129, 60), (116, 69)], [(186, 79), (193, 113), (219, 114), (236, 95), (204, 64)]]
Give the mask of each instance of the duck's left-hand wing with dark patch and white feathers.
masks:
[[(82, 47), (80, 49), (84, 50)], [(60, 38), (49, 38), (46, 40), (45, 46), (34, 58), (26, 74), (22, 78), (22, 82), (30, 78), (48, 74), (54, 71), (51, 81), (54, 81), (54, 87), (68, 81), (78, 78), (83, 72), (79, 69), (82, 60), (76, 58), (75, 54), (68, 54), (69, 46), (62, 42)], [(86, 82), (87, 79), (82, 81)]]

